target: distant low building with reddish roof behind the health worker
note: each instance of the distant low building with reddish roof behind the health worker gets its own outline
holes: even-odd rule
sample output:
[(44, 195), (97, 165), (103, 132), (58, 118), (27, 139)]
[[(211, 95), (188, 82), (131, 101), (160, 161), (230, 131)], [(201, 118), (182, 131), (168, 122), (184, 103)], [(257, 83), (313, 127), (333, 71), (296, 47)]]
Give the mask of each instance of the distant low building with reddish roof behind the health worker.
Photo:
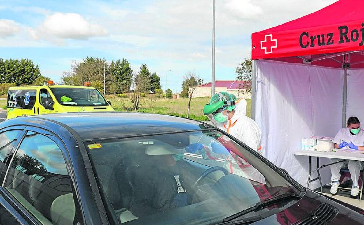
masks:
[[(237, 98), (251, 98), (251, 94), (245, 94), (245, 90), (239, 89), (244, 83), (245, 81), (215, 81), (215, 93), (228, 92)], [(211, 97), (211, 82), (197, 86), (192, 97)]]

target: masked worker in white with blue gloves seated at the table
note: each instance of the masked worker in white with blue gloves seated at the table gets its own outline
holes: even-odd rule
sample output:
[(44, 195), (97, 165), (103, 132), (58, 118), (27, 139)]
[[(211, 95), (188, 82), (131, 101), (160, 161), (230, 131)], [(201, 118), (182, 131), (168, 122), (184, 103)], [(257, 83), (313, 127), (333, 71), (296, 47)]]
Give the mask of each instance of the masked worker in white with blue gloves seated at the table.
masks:
[[(348, 119), (347, 128), (342, 128), (334, 138), (335, 148), (364, 151), (364, 130), (360, 129), (360, 121), (353, 116)], [(330, 159), (332, 163), (339, 162), (341, 159)], [(359, 194), (359, 175), (360, 170), (364, 169), (364, 162), (349, 160), (330, 165), (331, 168), (331, 194), (337, 193), (340, 183), (340, 169), (348, 167), (353, 180), (351, 195)]]

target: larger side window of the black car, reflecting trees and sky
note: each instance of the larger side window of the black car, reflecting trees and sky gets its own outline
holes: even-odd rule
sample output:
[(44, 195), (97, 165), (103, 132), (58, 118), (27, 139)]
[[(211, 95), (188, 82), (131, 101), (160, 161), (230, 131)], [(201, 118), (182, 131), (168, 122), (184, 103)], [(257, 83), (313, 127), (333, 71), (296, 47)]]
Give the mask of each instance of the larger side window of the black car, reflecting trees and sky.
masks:
[(59, 146), (27, 132), (5, 178), (5, 189), (41, 224), (72, 225), (75, 203)]

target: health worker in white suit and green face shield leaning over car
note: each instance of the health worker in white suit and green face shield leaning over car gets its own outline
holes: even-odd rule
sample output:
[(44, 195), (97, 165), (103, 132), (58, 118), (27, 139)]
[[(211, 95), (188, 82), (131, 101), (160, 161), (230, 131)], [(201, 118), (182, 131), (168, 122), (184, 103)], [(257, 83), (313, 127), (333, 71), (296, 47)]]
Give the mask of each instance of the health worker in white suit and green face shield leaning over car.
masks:
[(246, 100), (227, 92), (218, 92), (203, 107), (205, 114), (218, 128), (262, 154), (260, 129), (257, 123), (245, 115)]

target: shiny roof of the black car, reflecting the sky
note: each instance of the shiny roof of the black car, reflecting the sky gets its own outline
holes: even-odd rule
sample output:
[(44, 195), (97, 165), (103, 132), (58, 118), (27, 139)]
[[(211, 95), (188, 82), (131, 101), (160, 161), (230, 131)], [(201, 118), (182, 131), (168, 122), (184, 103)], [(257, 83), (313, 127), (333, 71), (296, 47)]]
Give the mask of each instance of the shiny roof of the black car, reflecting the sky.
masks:
[[(52, 113), (27, 117), (56, 121), (77, 132), (83, 140), (140, 136), (153, 133), (201, 130), (201, 122), (182, 117), (126, 112)], [(13, 119), (14, 120), (14, 119)], [(205, 124), (207, 128), (209, 127)]]

